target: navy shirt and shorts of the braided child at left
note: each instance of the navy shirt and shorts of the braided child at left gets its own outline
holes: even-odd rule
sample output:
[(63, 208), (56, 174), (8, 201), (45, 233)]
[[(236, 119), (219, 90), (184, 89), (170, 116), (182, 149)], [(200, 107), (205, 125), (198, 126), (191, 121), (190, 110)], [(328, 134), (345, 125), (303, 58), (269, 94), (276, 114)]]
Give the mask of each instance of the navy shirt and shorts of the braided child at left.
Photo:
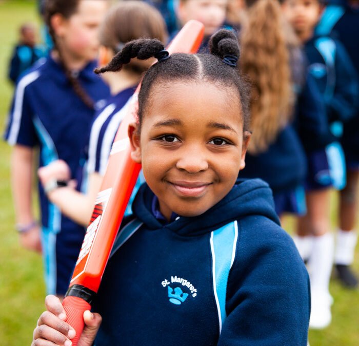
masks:
[[(78, 72), (78, 80), (90, 97), (98, 101), (107, 98), (109, 90), (93, 73), (95, 67), (95, 62), (85, 66)], [(5, 139), (11, 145), (39, 147), (40, 167), (64, 160), (73, 179), (92, 117), (93, 110), (74, 93), (62, 67), (48, 56), (19, 80)], [(85, 230), (49, 202), (41, 184), (38, 192), (47, 291), (63, 295)]]

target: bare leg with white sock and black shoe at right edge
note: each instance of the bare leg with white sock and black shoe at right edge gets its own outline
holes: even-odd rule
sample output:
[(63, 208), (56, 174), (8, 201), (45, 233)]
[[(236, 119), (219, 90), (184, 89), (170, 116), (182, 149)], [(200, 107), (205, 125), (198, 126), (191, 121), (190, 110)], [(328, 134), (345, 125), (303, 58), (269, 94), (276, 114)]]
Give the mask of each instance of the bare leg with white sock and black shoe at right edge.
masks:
[(347, 171), (347, 185), (340, 191), (340, 230), (337, 233), (335, 265), (340, 280), (349, 287), (356, 287), (358, 280), (350, 270), (356, 245), (355, 214), (359, 170)]

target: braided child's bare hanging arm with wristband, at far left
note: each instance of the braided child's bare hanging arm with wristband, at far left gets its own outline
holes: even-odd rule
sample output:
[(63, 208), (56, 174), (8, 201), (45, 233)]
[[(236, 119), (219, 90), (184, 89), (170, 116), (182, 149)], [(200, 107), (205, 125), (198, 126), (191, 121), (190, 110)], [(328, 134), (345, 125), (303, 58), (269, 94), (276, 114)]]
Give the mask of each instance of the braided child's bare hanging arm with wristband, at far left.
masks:
[(15, 206), (16, 223), (21, 244), (41, 252), (40, 229), (32, 212), (33, 151), (31, 147), (15, 145), (11, 156), (11, 187)]

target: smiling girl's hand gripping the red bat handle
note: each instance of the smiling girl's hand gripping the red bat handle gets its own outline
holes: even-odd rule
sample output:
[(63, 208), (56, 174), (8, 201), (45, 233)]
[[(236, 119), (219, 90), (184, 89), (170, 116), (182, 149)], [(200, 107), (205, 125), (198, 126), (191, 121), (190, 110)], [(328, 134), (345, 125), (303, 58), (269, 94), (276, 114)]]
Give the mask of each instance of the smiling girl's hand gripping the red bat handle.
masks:
[[(61, 301), (49, 295), (45, 299), (47, 311), (37, 321), (31, 346), (70, 346), (75, 330), (65, 323), (66, 313)], [(99, 314), (84, 312), (85, 328), (77, 346), (91, 346), (102, 318)]]

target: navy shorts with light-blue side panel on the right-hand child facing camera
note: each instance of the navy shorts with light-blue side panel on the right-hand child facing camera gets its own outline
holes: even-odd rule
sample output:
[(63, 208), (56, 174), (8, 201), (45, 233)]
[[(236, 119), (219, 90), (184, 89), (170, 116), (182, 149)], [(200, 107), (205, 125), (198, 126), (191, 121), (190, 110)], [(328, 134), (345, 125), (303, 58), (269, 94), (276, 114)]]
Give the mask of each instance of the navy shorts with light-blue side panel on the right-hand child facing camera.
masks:
[(340, 143), (334, 142), (324, 149), (307, 155), (308, 174), (305, 187), (308, 191), (334, 187), (341, 190), (346, 185), (346, 164)]

